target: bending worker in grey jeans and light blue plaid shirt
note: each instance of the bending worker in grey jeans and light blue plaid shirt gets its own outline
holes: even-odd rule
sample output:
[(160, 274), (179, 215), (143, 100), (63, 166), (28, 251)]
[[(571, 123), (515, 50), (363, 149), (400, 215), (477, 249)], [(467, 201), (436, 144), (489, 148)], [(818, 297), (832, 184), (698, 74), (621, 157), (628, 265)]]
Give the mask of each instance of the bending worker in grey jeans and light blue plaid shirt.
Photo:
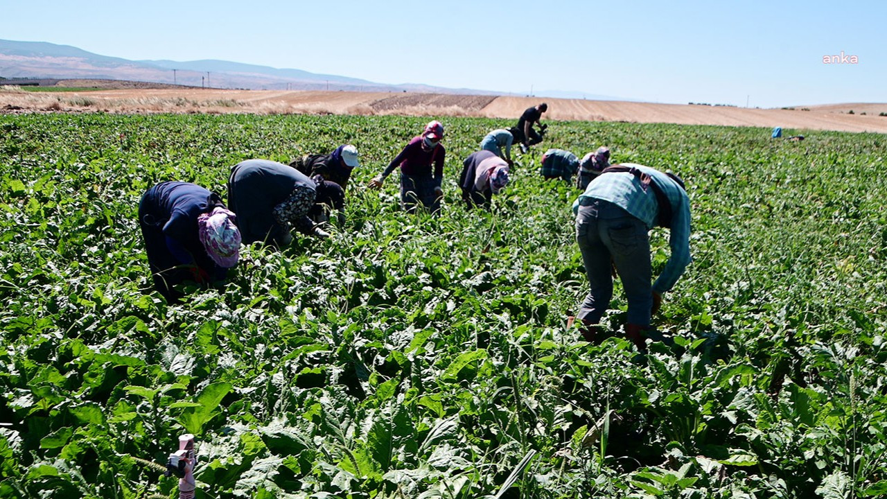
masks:
[[(625, 335), (644, 350), (643, 333), (650, 329), (651, 315), (690, 263), (690, 200), (683, 182), (647, 166), (617, 164), (588, 184), (573, 203), (573, 213), (591, 285), (577, 315), (585, 326), (583, 336), (593, 341), (600, 331), (593, 325), (600, 322), (613, 295), (612, 261), (628, 301)], [(651, 286), (648, 230), (654, 226), (669, 229), (671, 257)]]

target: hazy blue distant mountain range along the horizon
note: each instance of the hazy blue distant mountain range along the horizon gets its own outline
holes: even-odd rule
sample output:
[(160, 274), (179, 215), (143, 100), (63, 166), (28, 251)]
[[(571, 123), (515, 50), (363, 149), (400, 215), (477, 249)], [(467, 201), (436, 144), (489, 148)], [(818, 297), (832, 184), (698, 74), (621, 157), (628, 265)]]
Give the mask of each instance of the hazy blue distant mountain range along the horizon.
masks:
[[(467, 95), (514, 95), (452, 89), (421, 83), (386, 84), (301, 69), (279, 69), (227, 60), (130, 60), (98, 55), (70, 45), (0, 40), (0, 77), (131, 80), (194, 87), (248, 90), (414, 91)], [(538, 92), (539, 97), (626, 100), (579, 91)]]

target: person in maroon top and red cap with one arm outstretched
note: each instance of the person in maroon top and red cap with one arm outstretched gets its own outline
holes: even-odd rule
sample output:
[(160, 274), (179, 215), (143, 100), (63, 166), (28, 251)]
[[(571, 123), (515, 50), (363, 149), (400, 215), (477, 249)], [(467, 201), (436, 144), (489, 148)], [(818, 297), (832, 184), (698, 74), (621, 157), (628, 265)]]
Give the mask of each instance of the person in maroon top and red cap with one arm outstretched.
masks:
[(380, 188), (385, 178), (399, 166), (401, 207), (415, 213), (416, 203), (421, 202), (425, 208), (436, 213), (440, 210), (440, 200), (443, 197), (441, 181), (445, 151), (440, 143), (441, 139), (443, 125), (438, 121), (428, 123), (422, 134), (413, 137), (380, 176), (370, 180), (370, 188)]

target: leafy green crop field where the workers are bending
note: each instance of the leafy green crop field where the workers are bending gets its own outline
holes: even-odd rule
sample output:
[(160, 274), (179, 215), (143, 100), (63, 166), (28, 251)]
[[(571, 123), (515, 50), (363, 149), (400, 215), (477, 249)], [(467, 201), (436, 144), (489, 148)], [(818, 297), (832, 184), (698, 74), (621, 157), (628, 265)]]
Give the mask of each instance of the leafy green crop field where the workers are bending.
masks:
[[(792, 497), (887, 494), (887, 137), (551, 123), (491, 213), (461, 159), (509, 123), (442, 118), (439, 217), (363, 186), (428, 118), (0, 115), (0, 496)], [(251, 247), (224, 291), (166, 305), (137, 202), (226, 197), (248, 158), (357, 145), (330, 240)], [(581, 341), (577, 190), (546, 147), (678, 172), (694, 262), (646, 355)], [(654, 272), (667, 233), (651, 243)], [(618, 285), (605, 321), (617, 328)]]

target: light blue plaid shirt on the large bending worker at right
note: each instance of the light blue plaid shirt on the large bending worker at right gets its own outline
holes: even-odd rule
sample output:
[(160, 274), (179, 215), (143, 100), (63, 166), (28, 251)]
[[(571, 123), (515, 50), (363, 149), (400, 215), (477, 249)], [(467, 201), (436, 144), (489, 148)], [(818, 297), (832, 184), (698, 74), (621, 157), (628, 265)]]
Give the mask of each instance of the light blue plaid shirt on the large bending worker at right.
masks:
[[(669, 227), (671, 257), (665, 264), (663, 273), (653, 283), (653, 290), (662, 294), (674, 287), (690, 263), (690, 199), (684, 189), (663, 172), (640, 164), (627, 162), (621, 164), (633, 166), (647, 173), (657, 186), (662, 187), (663, 193), (671, 202), (671, 227)], [(578, 213), (579, 206), (587, 206), (594, 199), (616, 204), (639, 218), (649, 229), (655, 226), (659, 213), (656, 194), (652, 187), (644, 191), (640, 180), (631, 173), (607, 173), (593, 178), (585, 192), (573, 202), (573, 214)]]

